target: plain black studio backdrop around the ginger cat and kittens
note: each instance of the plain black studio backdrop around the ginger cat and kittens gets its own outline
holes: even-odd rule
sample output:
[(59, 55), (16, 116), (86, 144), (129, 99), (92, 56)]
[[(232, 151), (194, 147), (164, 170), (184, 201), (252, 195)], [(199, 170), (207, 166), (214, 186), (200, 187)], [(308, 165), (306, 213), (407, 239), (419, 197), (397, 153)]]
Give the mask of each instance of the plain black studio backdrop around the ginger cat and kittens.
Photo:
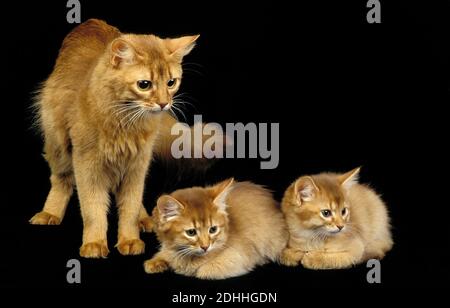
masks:
[[(3, 103), (13, 111), (2, 124), (8, 125), (5, 146), (15, 150), (2, 151), (10, 175), (2, 186), (10, 209), (2, 227), (16, 248), (2, 252), (2, 285), (145, 287), (163, 303), (180, 291), (277, 292), (287, 302), (307, 287), (444, 287), (450, 274), (448, 200), (438, 175), (447, 165), (449, 4), (381, 1), (382, 23), (368, 24), (366, 3), (81, 1), (81, 16), (104, 19), (122, 32), (200, 33), (185, 58), (190, 64), (180, 89), (195, 105), (185, 110), (188, 121), (201, 113), (204, 121), (221, 124), (280, 123), (274, 170), (261, 170), (261, 159), (223, 159), (197, 173), (155, 162), (146, 182), (148, 210), (162, 193), (231, 176), (264, 184), (280, 200), (300, 175), (362, 165), (361, 181), (382, 194), (392, 216), (395, 246), (381, 262), (381, 284), (367, 283), (364, 264), (335, 271), (269, 264), (213, 282), (147, 275), (142, 263), (157, 251), (156, 239), (142, 234), (144, 255), (119, 255), (113, 248), (114, 204), (109, 257), (81, 259), (76, 197), (60, 226), (29, 225), (50, 188), (42, 139), (30, 129), (32, 91), (50, 74), (64, 36), (75, 26), (66, 21), (66, 1), (34, 1), (4, 11), (11, 40)], [(66, 282), (72, 258), (81, 261), (79, 285)]]

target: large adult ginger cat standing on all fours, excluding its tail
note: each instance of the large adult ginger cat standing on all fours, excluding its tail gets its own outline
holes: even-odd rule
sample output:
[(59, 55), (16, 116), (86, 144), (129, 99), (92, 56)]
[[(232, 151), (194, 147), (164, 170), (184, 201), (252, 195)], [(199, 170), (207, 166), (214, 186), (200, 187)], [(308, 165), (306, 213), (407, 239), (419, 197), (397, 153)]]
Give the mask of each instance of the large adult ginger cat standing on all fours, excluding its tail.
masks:
[(175, 122), (163, 111), (172, 105), (182, 59), (197, 38), (122, 34), (95, 19), (67, 35), (37, 102), (52, 187), (32, 224), (59, 224), (76, 184), (84, 226), (80, 255), (106, 257), (113, 192), (117, 249), (123, 255), (144, 251), (144, 180), (161, 131)]

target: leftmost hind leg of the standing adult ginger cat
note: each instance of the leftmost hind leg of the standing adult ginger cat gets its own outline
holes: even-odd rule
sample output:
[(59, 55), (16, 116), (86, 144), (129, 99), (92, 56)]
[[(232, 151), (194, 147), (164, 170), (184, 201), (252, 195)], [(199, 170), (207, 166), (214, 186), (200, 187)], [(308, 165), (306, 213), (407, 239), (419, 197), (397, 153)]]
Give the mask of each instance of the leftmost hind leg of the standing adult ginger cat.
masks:
[(41, 212), (35, 214), (33, 225), (59, 225), (73, 194), (74, 176), (70, 150), (56, 142), (46, 141), (45, 158), (50, 165), (51, 189)]

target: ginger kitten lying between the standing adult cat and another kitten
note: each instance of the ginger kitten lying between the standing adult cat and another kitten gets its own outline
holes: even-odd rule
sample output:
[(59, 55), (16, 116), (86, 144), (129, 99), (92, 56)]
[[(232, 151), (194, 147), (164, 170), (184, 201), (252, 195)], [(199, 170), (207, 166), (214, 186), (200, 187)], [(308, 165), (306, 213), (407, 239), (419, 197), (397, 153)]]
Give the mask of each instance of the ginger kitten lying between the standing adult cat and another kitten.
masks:
[(161, 249), (144, 263), (147, 273), (170, 267), (201, 279), (243, 275), (277, 261), (288, 237), (271, 193), (233, 179), (164, 195), (152, 217)]

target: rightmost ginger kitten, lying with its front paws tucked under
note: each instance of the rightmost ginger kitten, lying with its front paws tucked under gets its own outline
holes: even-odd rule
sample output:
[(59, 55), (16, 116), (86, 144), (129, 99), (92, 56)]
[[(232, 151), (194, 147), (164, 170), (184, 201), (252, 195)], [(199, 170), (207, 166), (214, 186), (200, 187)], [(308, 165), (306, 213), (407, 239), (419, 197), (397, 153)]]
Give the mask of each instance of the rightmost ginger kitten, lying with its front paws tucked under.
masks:
[(392, 248), (386, 205), (357, 183), (359, 170), (303, 176), (287, 189), (282, 211), (290, 238), (281, 263), (346, 268)]

